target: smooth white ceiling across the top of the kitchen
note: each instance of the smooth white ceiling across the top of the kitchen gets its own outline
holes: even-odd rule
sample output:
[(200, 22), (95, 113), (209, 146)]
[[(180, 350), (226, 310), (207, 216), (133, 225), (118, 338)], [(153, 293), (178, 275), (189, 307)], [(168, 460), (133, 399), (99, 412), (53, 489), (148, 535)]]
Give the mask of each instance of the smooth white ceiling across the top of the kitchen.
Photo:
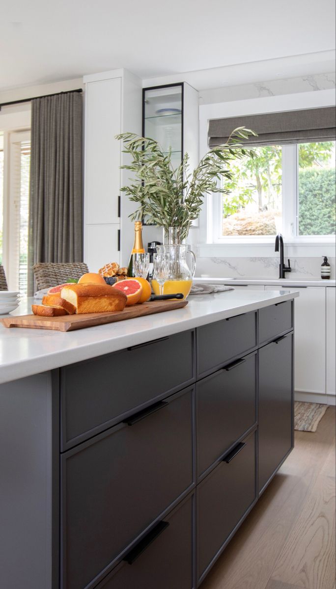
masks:
[(288, 75), (281, 71), (286, 59), (305, 54), (317, 54), (311, 73), (318, 73), (324, 52), (335, 49), (334, 0), (17, 0), (2, 6), (0, 91), (121, 67), (151, 78), (282, 59), (275, 78)]

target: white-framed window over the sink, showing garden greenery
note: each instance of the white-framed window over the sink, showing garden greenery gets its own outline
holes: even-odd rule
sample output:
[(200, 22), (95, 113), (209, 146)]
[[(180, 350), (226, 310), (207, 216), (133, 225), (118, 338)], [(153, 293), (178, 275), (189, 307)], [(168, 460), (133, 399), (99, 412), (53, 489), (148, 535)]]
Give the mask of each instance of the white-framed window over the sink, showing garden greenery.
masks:
[[(236, 160), (217, 197), (216, 241), (335, 235), (335, 141), (264, 145)], [(216, 198), (216, 196), (215, 196)]]

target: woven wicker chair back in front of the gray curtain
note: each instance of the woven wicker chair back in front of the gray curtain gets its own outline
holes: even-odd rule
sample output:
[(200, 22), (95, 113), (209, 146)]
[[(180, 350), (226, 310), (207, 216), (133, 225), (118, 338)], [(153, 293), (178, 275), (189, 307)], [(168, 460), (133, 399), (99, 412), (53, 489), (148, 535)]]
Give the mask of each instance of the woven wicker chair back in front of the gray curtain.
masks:
[(52, 286), (67, 282), (68, 278), (80, 278), (88, 272), (84, 262), (51, 263), (39, 262), (32, 267), (36, 280), (37, 290), (50, 289)]

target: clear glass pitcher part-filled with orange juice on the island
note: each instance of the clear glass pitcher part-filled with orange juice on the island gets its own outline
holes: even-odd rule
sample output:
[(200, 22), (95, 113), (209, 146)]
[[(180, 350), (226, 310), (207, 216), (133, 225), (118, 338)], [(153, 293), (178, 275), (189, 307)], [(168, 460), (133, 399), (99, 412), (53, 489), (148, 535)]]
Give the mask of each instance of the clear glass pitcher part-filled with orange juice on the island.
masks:
[[(196, 257), (188, 247), (176, 244), (156, 247), (157, 253), (166, 253), (170, 259), (169, 276), (163, 285), (163, 294), (183, 293), (183, 298), (186, 299), (190, 293), (195, 274)], [(190, 267), (187, 264), (188, 255), (190, 256)], [(155, 294), (160, 294), (160, 287), (155, 279), (151, 281), (151, 286)]]

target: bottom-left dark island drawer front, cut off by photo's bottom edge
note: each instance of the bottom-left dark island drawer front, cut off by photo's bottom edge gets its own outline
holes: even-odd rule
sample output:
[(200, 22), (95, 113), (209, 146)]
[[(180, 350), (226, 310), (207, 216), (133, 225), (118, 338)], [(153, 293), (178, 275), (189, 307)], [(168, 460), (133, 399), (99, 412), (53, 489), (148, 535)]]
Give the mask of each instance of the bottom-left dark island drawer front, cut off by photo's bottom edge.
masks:
[(193, 589), (193, 496), (136, 545), (97, 589)]

